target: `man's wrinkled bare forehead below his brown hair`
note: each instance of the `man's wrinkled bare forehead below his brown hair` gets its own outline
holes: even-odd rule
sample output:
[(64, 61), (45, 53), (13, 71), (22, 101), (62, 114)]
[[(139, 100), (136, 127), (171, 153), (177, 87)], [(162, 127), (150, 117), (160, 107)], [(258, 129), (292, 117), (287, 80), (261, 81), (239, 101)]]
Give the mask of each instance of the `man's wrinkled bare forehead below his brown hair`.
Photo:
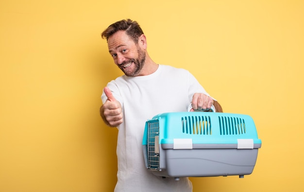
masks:
[(108, 38), (109, 51), (115, 50), (120, 46), (129, 46), (134, 41), (126, 34), (125, 31), (118, 31)]

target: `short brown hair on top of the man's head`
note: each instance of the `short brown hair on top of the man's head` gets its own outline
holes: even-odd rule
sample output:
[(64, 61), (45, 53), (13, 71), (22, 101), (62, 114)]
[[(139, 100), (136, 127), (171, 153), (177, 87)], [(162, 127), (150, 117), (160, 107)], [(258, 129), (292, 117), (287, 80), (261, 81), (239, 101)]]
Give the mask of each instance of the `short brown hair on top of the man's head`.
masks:
[(109, 37), (118, 31), (126, 31), (126, 34), (130, 36), (136, 44), (139, 36), (144, 34), (139, 24), (136, 21), (132, 21), (128, 18), (111, 24), (102, 32), (101, 37), (108, 41)]

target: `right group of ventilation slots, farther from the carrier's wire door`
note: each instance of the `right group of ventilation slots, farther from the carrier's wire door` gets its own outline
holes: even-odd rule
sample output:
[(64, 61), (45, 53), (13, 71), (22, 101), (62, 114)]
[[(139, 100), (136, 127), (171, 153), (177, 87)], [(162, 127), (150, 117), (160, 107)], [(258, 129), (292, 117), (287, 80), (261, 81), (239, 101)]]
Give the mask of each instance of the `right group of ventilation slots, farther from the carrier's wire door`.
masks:
[(220, 135), (241, 135), (246, 133), (245, 121), (235, 117), (219, 117)]

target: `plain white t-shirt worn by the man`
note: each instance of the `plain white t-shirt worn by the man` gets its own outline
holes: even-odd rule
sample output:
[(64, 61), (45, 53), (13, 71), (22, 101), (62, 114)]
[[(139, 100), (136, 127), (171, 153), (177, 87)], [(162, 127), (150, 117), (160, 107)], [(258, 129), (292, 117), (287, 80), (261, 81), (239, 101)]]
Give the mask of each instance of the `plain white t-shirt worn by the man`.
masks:
[[(107, 87), (122, 106), (123, 123), (118, 126), (118, 181), (115, 192), (192, 192), (187, 177), (153, 175), (145, 167), (142, 139), (145, 122), (165, 112), (187, 111), (194, 93), (206, 93), (187, 70), (159, 65), (147, 76), (120, 76)], [(101, 96), (107, 99), (104, 92)]]

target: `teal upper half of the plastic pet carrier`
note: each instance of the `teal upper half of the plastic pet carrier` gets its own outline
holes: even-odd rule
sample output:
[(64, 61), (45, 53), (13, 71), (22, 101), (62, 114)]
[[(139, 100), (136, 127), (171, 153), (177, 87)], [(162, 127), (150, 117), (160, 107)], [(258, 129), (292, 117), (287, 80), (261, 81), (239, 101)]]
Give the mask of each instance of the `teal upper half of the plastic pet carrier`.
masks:
[(162, 113), (146, 122), (143, 145), (147, 145), (149, 138), (155, 138), (153, 134), (157, 134), (155, 142), (165, 149), (261, 147), (253, 119), (242, 114)]

